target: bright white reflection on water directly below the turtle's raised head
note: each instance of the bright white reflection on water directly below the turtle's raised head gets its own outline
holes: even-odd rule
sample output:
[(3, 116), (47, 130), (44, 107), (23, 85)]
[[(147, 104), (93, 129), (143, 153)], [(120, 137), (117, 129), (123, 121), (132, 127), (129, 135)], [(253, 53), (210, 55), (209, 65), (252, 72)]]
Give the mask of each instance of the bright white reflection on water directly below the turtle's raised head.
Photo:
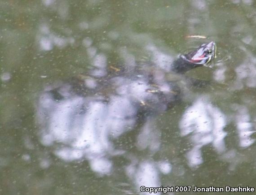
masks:
[(225, 151), (224, 131), (226, 119), (219, 108), (214, 107), (207, 98), (201, 97), (185, 110), (181, 121), (181, 135), (190, 134), (192, 148), (187, 152), (190, 166), (203, 163), (202, 147), (212, 144), (217, 152)]

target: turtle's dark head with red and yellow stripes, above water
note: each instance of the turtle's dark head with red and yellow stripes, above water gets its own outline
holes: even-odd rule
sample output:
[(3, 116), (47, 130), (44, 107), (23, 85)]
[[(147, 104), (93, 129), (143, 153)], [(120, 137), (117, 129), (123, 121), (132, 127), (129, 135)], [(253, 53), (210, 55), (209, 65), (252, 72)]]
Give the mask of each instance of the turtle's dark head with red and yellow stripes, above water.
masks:
[(208, 64), (216, 58), (216, 43), (213, 41), (203, 43), (194, 51), (181, 55), (181, 58), (194, 64), (194, 68), (198, 66), (208, 66)]

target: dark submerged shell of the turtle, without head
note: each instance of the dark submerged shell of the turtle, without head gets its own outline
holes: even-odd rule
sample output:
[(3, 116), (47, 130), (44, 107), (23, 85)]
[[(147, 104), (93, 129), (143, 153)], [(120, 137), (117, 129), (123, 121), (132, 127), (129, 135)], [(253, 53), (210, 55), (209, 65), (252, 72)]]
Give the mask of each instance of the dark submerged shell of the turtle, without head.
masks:
[(93, 71), (80, 74), (49, 93), (58, 101), (78, 95), (88, 103), (102, 102), (110, 107), (119, 102), (119, 107), (124, 108), (126, 102), (133, 110), (130, 117), (136, 117), (167, 110), (180, 100), (181, 91), (176, 82), (166, 80), (162, 69), (144, 64), (132, 70), (111, 66), (103, 77), (93, 76)]

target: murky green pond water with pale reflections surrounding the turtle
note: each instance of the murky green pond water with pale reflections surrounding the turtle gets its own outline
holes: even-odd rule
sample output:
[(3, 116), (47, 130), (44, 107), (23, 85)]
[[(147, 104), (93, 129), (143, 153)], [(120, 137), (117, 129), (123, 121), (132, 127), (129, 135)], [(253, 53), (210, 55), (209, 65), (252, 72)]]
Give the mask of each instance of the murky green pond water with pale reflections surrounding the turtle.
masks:
[[(0, 194), (256, 187), (254, 1), (2, 0), (0, 26)], [(124, 100), (117, 114), (65, 87), (95, 67), (164, 68), (208, 39), (213, 68), (188, 74), (211, 83), (186, 87), (180, 104), (145, 121), (125, 118)], [(53, 101), (48, 92), (63, 85), (67, 98)]]

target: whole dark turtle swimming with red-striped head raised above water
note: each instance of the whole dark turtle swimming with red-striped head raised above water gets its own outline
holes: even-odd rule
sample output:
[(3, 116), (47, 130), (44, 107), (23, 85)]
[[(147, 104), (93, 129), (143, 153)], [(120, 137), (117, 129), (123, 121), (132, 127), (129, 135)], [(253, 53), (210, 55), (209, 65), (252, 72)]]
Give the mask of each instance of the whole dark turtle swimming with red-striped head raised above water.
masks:
[[(102, 101), (108, 104), (113, 98), (128, 100), (137, 110), (135, 113), (146, 116), (163, 112), (181, 100), (181, 89), (176, 81), (185, 79), (186, 82), (198, 84), (198, 79), (181, 75), (190, 69), (209, 66), (214, 58), (216, 43), (211, 41), (179, 55), (168, 71), (156, 67), (152, 62), (138, 62), (132, 68), (110, 65), (104, 76), (97, 76), (92, 70), (89, 74), (73, 77), (69, 83), (72, 93), (86, 97), (88, 101)], [(60, 95), (56, 89), (53, 91)]]

